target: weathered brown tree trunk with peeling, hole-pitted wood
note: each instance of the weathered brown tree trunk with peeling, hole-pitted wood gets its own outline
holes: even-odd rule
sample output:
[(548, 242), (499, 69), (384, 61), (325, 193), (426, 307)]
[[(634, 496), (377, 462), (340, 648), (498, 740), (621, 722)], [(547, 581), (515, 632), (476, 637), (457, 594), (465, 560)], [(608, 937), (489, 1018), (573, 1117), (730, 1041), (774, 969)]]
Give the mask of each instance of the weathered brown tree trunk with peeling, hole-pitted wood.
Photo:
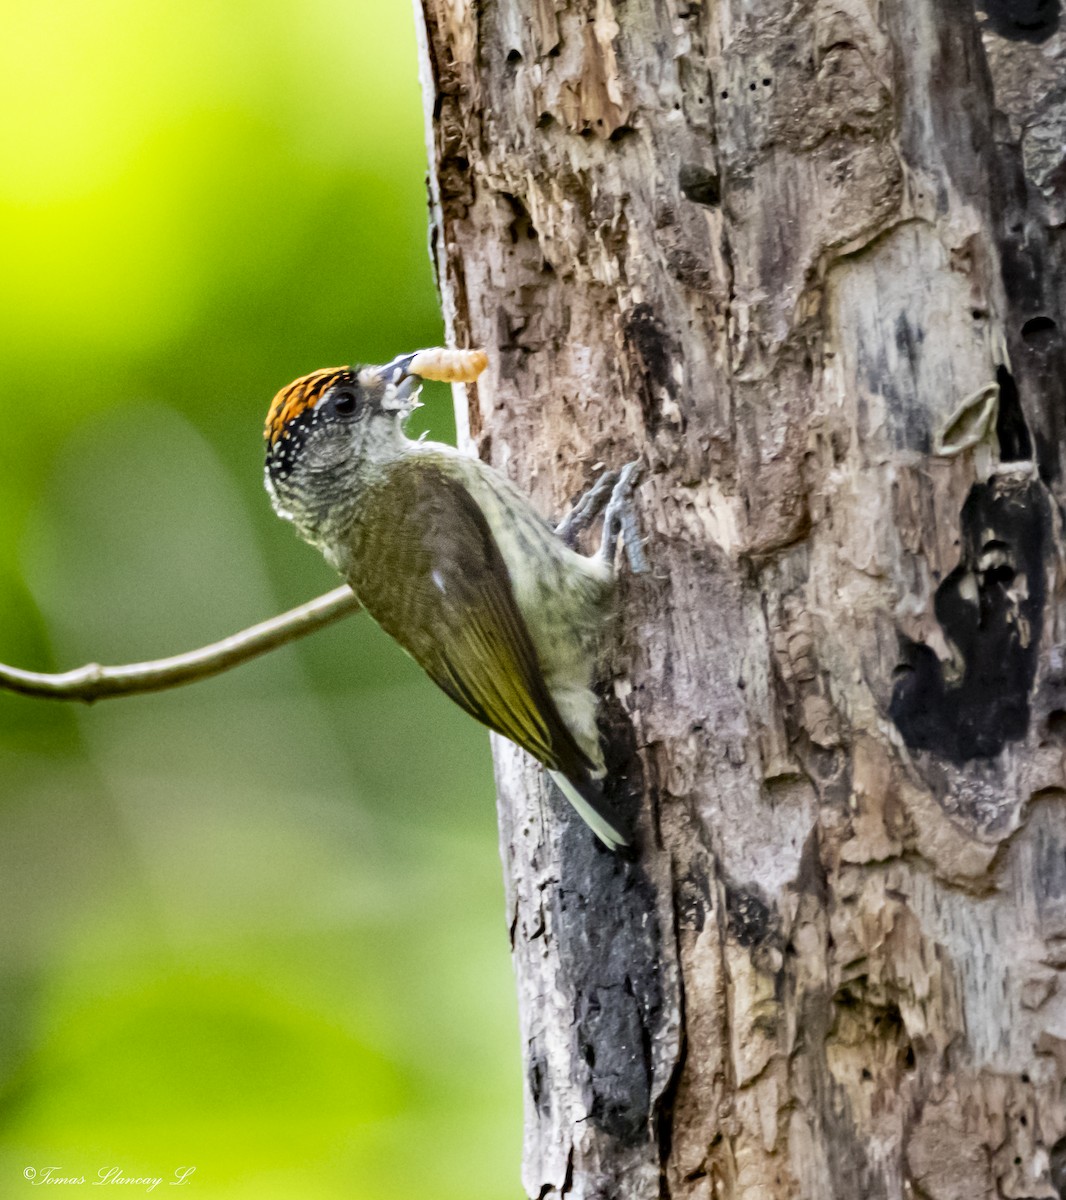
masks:
[(423, 0), (467, 443), (637, 454), (636, 862), (497, 740), (531, 1196), (1066, 1196), (1059, 0)]

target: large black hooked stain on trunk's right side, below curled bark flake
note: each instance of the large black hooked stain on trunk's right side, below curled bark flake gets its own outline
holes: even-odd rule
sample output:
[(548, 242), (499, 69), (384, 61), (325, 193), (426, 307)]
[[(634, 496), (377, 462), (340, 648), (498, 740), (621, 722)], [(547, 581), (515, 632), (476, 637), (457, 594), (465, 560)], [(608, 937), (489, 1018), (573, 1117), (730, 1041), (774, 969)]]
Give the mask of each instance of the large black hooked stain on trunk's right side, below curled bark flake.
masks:
[(993, 758), (1029, 728), (1052, 545), (1047, 493), (1034, 480), (976, 484), (960, 526), (960, 562), (934, 611), (962, 676), (950, 682), (928, 646), (902, 638), (890, 706), (912, 750), (954, 763)]

